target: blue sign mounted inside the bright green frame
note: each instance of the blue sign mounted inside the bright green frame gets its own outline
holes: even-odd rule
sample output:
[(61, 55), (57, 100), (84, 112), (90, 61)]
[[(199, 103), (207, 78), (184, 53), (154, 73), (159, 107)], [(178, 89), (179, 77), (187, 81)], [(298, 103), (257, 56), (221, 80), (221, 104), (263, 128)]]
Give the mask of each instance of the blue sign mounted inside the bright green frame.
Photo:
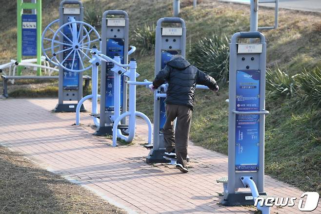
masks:
[(37, 56), (37, 15), (22, 14), (22, 55)]

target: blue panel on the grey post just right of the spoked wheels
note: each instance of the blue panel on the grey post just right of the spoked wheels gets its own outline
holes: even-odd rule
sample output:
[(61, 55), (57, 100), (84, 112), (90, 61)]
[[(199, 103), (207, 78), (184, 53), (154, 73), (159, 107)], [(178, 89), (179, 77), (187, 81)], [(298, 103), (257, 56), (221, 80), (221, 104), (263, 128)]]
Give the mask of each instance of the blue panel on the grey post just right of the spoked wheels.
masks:
[[(120, 56), (120, 63), (124, 63), (124, 40), (123, 39), (109, 39), (107, 42), (106, 55), (110, 58), (114, 58), (115, 55)], [(111, 69), (114, 67), (113, 63), (106, 63), (106, 93), (105, 93), (105, 110), (114, 111), (114, 71)], [(123, 99), (123, 79), (124, 76), (120, 76), (120, 108), (122, 107)]]

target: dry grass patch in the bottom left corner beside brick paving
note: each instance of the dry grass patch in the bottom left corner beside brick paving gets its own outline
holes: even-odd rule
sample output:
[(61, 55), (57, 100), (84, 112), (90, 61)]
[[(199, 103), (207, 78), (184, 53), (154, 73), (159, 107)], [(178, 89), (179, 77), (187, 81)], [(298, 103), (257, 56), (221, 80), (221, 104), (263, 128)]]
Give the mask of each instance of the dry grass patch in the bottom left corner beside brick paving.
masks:
[(0, 213), (124, 214), (59, 175), (0, 147)]

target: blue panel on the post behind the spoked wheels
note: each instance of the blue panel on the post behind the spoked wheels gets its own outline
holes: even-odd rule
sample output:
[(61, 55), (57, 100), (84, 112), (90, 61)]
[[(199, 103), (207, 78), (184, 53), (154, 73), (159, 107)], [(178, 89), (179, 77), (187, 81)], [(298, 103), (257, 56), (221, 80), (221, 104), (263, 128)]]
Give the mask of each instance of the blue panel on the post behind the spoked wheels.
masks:
[[(69, 26), (65, 26), (63, 28), (63, 33), (70, 39), (72, 40), (72, 35)], [(63, 37), (63, 43), (69, 43), (69, 41)], [(70, 48), (68, 45), (63, 45), (63, 49)], [(63, 52), (63, 59), (65, 59), (68, 54), (72, 50), (67, 50)], [(70, 69), (75, 69), (79, 70), (79, 57), (78, 54), (76, 53), (75, 55), (75, 61), (74, 61), (74, 66), (72, 67), (74, 59), (74, 52), (68, 57), (68, 59), (63, 63), (63, 66), (70, 68)], [(63, 70), (63, 82), (62, 82), (63, 88), (67, 90), (72, 90), (72, 89), (78, 89), (79, 88), (79, 72), (71, 72), (67, 70)]]

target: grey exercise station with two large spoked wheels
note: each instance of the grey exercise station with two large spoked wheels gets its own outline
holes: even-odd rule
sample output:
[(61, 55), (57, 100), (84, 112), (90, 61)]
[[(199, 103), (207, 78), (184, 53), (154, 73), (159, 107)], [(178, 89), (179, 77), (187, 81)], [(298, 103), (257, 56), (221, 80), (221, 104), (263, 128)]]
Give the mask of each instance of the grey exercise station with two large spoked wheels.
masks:
[[(76, 111), (76, 105), (82, 98), (82, 72), (93, 67), (92, 97), (89, 97), (92, 98), (93, 111), (97, 113), (98, 70), (89, 62), (92, 58), (88, 55), (91, 47), (94, 51), (100, 47), (100, 35), (93, 26), (80, 21), (83, 20), (81, 1), (62, 0), (59, 10), (60, 19), (51, 22), (42, 36), (46, 58), (59, 66), (59, 103), (55, 111)], [(82, 103), (79, 109), (84, 110)]]

